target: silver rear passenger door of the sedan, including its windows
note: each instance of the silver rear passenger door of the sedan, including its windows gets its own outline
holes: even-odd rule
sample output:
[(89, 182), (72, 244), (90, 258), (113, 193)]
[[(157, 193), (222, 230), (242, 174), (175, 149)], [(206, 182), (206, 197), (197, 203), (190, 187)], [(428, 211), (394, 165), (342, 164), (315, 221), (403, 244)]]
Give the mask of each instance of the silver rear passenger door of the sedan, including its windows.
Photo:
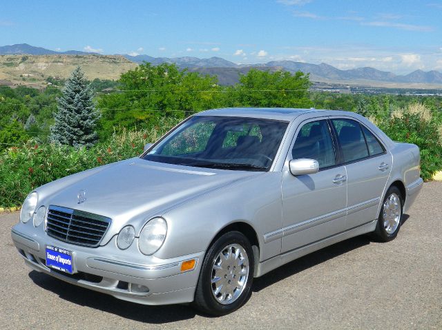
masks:
[(392, 167), (392, 156), (363, 123), (354, 118), (332, 118), (347, 169), (347, 225), (363, 225), (378, 217), (378, 205)]

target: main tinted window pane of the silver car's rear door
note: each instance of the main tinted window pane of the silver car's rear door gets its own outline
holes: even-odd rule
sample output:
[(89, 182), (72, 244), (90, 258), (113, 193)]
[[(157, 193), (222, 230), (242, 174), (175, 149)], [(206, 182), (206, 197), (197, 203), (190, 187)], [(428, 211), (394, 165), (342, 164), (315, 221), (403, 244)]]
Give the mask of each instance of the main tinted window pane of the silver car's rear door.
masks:
[(369, 156), (361, 125), (358, 122), (350, 119), (332, 119), (332, 123), (338, 133), (345, 163)]

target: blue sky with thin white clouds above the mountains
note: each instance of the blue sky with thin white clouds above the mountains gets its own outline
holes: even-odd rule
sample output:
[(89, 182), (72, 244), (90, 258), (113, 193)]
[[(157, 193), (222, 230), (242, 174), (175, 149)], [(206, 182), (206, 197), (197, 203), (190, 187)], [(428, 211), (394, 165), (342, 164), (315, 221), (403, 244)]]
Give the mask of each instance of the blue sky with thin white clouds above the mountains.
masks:
[(0, 8), (0, 45), (442, 71), (441, 0), (1, 0)]

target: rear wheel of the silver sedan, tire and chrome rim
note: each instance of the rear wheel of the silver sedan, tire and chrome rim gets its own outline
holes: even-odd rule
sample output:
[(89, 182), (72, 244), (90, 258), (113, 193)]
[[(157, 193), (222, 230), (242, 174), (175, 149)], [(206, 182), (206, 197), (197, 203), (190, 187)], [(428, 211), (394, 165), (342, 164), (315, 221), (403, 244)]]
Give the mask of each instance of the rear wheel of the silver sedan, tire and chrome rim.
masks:
[(372, 232), (372, 238), (379, 242), (389, 242), (398, 236), (401, 229), (403, 214), (403, 197), (396, 186), (387, 190), (379, 212), (376, 229)]

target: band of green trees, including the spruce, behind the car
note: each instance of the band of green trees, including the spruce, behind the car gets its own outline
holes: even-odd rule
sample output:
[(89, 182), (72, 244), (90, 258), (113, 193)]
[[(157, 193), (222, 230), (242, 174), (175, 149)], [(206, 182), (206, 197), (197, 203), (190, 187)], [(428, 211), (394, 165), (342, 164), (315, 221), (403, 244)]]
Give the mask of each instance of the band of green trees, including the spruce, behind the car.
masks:
[(438, 96), (332, 94), (310, 86), (302, 72), (250, 70), (236, 85), (221, 86), (215, 76), (169, 63), (143, 63), (116, 82), (89, 82), (77, 69), (62, 88), (0, 87), (0, 149), (30, 138), (93, 145), (115, 132), (151, 129), (164, 118), (179, 121), (215, 107), (316, 107), (383, 118), (410, 103), (434, 111), (442, 103)]

